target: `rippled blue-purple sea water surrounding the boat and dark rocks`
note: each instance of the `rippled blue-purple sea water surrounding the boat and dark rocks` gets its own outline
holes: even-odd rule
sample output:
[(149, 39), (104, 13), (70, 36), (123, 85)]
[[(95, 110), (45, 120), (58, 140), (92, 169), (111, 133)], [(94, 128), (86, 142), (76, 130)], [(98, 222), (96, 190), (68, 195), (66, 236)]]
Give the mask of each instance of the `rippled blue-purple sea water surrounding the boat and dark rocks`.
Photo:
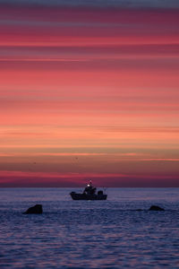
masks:
[[(71, 190), (0, 189), (1, 268), (179, 268), (179, 189), (108, 188), (107, 201)], [(22, 214), (34, 204), (42, 215)]]

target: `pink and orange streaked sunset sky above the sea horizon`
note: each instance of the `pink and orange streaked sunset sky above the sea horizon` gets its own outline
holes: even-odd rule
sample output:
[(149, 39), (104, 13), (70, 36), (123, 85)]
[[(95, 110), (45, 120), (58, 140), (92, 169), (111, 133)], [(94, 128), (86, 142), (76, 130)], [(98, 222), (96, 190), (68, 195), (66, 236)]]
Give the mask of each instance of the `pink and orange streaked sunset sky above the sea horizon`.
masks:
[(0, 187), (179, 187), (179, 2), (0, 0)]

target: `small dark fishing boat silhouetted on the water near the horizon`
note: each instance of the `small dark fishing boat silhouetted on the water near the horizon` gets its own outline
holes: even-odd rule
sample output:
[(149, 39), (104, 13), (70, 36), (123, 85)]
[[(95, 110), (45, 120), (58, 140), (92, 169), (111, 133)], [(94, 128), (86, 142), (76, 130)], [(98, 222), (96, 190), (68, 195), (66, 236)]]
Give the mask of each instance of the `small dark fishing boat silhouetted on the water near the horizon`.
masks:
[(107, 200), (107, 195), (103, 193), (102, 190), (92, 186), (92, 182), (85, 187), (82, 194), (77, 194), (75, 192), (70, 193), (72, 200)]

